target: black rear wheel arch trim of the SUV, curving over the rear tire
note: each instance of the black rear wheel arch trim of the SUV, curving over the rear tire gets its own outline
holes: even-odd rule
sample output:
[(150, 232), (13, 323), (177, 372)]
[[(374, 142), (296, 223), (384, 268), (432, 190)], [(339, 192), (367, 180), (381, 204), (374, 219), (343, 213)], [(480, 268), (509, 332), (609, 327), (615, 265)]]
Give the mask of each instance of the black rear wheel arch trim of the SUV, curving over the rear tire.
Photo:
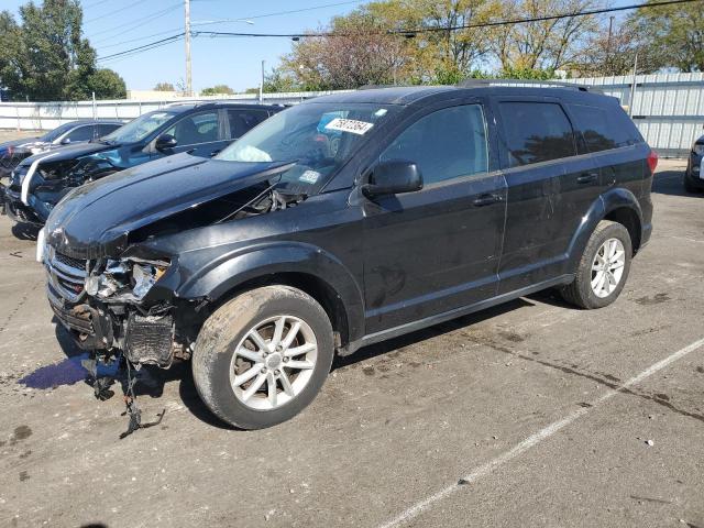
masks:
[(580, 227), (576, 229), (568, 249), (568, 270), (566, 273), (574, 273), (576, 266), (582, 258), (586, 243), (596, 229), (598, 222), (604, 220), (610, 212), (616, 209), (627, 208), (638, 216), (639, 229), (642, 229), (644, 216), (638, 198), (630, 190), (620, 187), (609, 189), (601, 195), (582, 217)]

